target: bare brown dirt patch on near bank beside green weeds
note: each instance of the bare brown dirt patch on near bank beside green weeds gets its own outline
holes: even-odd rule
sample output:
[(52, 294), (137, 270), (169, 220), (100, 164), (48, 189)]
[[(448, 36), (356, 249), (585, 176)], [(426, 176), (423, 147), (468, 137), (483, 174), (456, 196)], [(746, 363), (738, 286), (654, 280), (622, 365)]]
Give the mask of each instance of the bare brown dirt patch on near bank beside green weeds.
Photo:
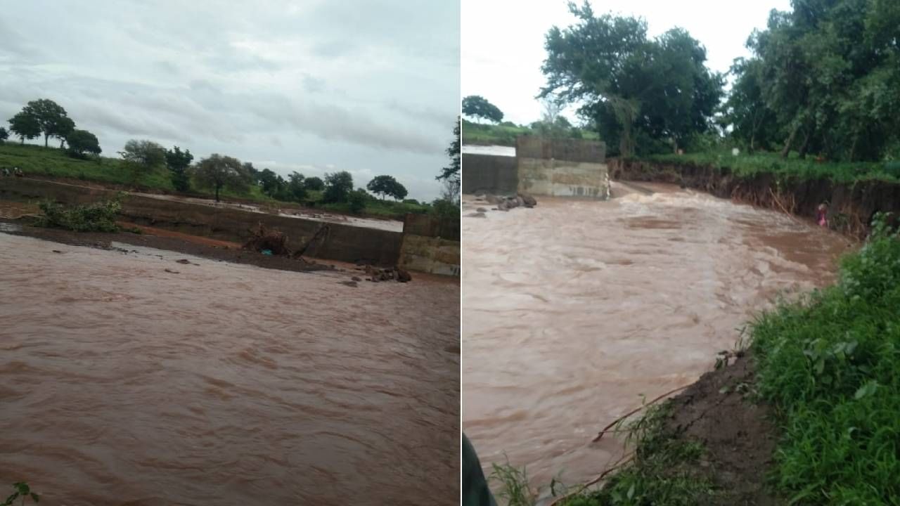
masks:
[(671, 400), (665, 430), (706, 447), (701, 473), (720, 492), (712, 506), (779, 504), (765, 484), (778, 432), (770, 406), (753, 398), (754, 376), (752, 357), (738, 357)]

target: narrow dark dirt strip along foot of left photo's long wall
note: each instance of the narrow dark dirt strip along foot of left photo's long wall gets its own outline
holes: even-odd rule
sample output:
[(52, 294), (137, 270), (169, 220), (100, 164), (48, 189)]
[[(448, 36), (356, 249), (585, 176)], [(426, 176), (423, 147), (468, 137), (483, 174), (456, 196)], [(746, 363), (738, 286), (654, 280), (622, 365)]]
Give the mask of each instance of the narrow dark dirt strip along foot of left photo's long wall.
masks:
[[(31, 227), (23, 223), (23, 221), (18, 220), (0, 219), (0, 223), (11, 223), (22, 226), (22, 230), (7, 230), (6, 233), (50, 240), (71, 246), (110, 249), (112, 248), (111, 243), (114, 241), (121, 242), (122, 244), (130, 244), (132, 246), (166, 249), (168, 251), (177, 251), (195, 257), (211, 258), (235, 264), (249, 264), (270, 269), (296, 272), (321, 270), (357, 272), (353, 266), (342, 264), (340, 262), (329, 261), (329, 263), (323, 263), (311, 258), (307, 258), (304, 261), (299, 258), (294, 259), (275, 255), (263, 255), (255, 251), (241, 249), (240, 245), (237, 243), (193, 237), (188, 236), (187, 234), (176, 234), (175, 232), (169, 232), (166, 235), (154, 235), (149, 232), (136, 234), (130, 231), (120, 231), (116, 233), (73, 232), (69, 230)], [(150, 230), (146, 227), (140, 228), (142, 230)]]

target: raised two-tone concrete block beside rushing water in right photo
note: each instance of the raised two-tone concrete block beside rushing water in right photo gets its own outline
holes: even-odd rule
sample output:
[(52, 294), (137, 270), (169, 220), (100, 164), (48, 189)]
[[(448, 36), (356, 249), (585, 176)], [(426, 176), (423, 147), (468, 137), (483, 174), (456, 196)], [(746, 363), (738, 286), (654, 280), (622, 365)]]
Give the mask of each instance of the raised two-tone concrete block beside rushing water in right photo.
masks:
[(603, 142), (519, 137), (518, 191), (535, 195), (609, 198)]

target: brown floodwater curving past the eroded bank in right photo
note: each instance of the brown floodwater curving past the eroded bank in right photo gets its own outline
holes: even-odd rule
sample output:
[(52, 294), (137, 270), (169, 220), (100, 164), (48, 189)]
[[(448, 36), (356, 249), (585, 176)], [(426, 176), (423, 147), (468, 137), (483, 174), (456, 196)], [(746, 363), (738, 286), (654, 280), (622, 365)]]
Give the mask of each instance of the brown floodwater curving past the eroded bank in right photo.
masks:
[[(463, 428), (482, 465), (583, 483), (599, 429), (697, 380), (781, 292), (833, 279), (851, 243), (785, 214), (653, 185), (464, 217)], [(464, 216), (487, 207), (464, 197)]]

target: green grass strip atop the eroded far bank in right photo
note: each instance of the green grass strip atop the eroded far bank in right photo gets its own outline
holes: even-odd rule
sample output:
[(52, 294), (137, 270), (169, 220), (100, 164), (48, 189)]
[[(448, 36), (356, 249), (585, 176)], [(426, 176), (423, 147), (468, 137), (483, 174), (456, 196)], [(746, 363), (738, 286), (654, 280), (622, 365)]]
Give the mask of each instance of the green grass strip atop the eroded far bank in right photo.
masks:
[(752, 155), (742, 153), (735, 157), (731, 151), (723, 150), (684, 155), (651, 155), (641, 159), (698, 167), (729, 168), (737, 176), (772, 173), (803, 179), (829, 178), (841, 183), (860, 179), (885, 181), (900, 179), (900, 162), (817, 162), (812, 157), (797, 158), (796, 153), (791, 153), (788, 158), (781, 158), (778, 153), (764, 152)]

